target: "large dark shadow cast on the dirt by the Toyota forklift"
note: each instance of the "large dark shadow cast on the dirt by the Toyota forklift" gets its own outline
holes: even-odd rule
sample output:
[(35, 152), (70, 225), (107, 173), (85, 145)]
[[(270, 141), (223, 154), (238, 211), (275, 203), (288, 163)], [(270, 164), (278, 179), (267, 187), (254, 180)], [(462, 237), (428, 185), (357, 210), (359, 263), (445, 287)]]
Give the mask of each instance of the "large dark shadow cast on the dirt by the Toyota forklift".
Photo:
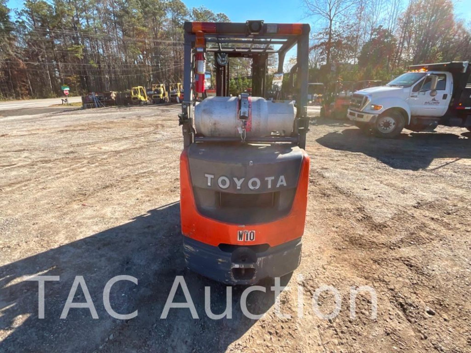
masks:
[[(179, 203), (148, 211), (129, 223), (27, 257), (0, 268), (0, 330), (8, 334), (2, 352), (224, 352), (253, 324), (240, 309), (242, 288), (233, 288), (233, 319), (211, 320), (204, 310), (204, 287), (211, 287), (211, 310), (226, 308), (226, 286), (186, 270), (181, 252)], [(35, 274), (60, 276), (46, 282), (45, 319), (38, 319), (38, 283), (24, 281)], [(121, 274), (138, 278), (138, 285), (117, 282), (111, 291), (113, 309), (138, 310), (131, 320), (112, 318), (103, 305), (106, 282)], [(60, 319), (75, 276), (84, 277), (99, 319), (89, 309), (72, 308)], [(162, 309), (175, 276), (182, 275), (199, 320), (188, 309)], [(288, 281), (289, 279), (285, 279)], [(283, 283), (283, 281), (282, 281)], [(266, 286), (271, 283), (266, 283)], [(265, 313), (274, 294), (252, 292), (249, 311)], [(174, 302), (185, 302), (181, 289)], [(81, 289), (74, 302), (85, 302)], [(0, 331), (1, 332), (1, 331)]]

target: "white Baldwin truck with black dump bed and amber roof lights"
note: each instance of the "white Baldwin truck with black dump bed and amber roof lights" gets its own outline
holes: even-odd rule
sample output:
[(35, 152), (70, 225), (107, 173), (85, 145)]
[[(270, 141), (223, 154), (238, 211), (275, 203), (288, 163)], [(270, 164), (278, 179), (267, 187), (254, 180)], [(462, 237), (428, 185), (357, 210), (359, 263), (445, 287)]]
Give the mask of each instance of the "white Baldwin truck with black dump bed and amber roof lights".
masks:
[(469, 62), (409, 66), (388, 84), (355, 92), (347, 112), (359, 128), (394, 138), (403, 128), (432, 131), (437, 125), (471, 131)]

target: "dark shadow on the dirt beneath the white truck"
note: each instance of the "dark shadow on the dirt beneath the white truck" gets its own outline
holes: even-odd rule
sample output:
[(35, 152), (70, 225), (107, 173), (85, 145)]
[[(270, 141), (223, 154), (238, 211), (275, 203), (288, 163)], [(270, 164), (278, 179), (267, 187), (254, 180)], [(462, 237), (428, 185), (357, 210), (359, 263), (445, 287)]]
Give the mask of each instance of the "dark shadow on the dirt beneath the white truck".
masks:
[(328, 133), (316, 141), (333, 150), (364, 153), (397, 169), (419, 170), (429, 167), (435, 158), (455, 159), (435, 168), (438, 169), (471, 158), (469, 132), (461, 135), (403, 132), (397, 139), (383, 139), (365, 135), (358, 128), (348, 128)]

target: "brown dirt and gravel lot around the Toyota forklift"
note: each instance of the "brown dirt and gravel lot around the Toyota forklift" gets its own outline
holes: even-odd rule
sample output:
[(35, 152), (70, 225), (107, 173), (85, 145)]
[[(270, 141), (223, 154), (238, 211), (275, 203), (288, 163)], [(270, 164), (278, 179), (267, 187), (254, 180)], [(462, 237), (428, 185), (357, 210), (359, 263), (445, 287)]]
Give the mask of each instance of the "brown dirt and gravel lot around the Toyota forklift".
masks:
[[(403, 132), (397, 140), (365, 136), (339, 120), (313, 121), (309, 203), (298, 270), (252, 292), (233, 289), (233, 318), (205, 314), (226, 307), (226, 286), (185, 269), (179, 232), (178, 106), (100, 108), (0, 119), (1, 352), (471, 352), (471, 133)], [(47, 282), (45, 319), (38, 284)], [(113, 286), (117, 320), (103, 288)], [(88, 309), (60, 315), (81, 275), (99, 319)], [(182, 275), (199, 319), (171, 309), (160, 319), (175, 276)], [(302, 279), (300, 278), (302, 276)], [(341, 312), (319, 318), (311, 298), (339, 290)], [(350, 317), (350, 287), (371, 286)], [(298, 289), (304, 303), (298, 303)], [(77, 291), (76, 302), (84, 295)], [(179, 290), (175, 301), (184, 301)], [(323, 293), (320, 311), (333, 310)], [(298, 308), (303, 308), (302, 317)]]

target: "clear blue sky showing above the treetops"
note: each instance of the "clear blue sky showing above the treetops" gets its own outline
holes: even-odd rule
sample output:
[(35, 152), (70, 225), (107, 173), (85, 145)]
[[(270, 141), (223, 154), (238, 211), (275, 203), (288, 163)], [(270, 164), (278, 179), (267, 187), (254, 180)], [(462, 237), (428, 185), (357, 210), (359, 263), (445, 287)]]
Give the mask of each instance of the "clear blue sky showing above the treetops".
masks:
[[(183, 0), (188, 8), (204, 5), (214, 12), (224, 12), (232, 22), (265, 20), (265, 22), (308, 22), (303, 15), (301, 0), (252, 0), (249, 6), (230, 0)], [(471, 0), (455, 0), (455, 13), (464, 20), (471, 20)], [(21, 8), (23, 0), (8, 0), (9, 8)]]

